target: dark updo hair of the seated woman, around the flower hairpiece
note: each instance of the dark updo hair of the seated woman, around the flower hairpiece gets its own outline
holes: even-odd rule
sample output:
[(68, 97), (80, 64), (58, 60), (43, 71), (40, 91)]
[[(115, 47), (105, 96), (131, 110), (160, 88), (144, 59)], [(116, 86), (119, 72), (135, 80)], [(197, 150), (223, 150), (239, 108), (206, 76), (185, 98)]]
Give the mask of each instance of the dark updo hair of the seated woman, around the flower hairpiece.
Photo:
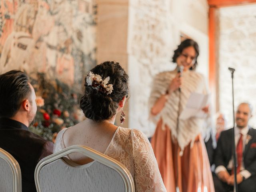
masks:
[(92, 86), (87, 86), (85, 78), (85, 91), (80, 100), (80, 108), (86, 118), (96, 122), (108, 120), (116, 114), (118, 103), (128, 95), (129, 77), (120, 64), (114, 61), (103, 62), (90, 71), (102, 76), (103, 80), (109, 76), (108, 84), (113, 85), (113, 90), (111, 94), (100, 92)]

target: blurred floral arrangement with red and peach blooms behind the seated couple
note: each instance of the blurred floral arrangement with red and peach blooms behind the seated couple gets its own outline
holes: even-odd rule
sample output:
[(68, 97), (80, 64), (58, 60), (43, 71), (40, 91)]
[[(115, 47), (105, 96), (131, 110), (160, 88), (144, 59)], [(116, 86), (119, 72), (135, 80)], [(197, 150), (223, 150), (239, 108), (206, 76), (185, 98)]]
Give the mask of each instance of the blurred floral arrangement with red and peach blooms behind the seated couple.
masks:
[(30, 78), (36, 91), (38, 110), (30, 130), (55, 142), (57, 133), (84, 119), (79, 108), (80, 93), (59, 80), (49, 80), (43, 73), (37, 80)]

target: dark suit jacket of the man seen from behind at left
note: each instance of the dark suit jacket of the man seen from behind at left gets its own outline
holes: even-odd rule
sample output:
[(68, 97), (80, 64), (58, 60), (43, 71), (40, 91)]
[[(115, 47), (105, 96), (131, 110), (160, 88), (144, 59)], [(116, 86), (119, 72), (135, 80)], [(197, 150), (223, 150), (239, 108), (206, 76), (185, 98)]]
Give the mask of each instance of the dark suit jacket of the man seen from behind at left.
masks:
[(22, 192), (36, 192), (34, 171), (37, 163), (52, 154), (53, 143), (30, 132), (18, 121), (0, 118), (0, 148), (9, 152), (19, 163)]

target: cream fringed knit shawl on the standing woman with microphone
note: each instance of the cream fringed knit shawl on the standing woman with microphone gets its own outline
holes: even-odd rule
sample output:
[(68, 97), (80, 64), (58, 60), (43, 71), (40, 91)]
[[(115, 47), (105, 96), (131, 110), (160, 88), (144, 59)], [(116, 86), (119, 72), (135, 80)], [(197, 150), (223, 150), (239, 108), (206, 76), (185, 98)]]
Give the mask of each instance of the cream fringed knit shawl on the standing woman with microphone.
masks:
[[(155, 104), (156, 100), (160, 98), (162, 94), (165, 94), (171, 80), (176, 76), (177, 71), (162, 72), (157, 74), (153, 81), (153, 88), (150, 94), (149, 107), (150, 109)], [(178, 90), (171, 93), (170, 97), (166, 101), (164, 108), (161, 112), (156, 115), (150, 115), (150, 119), (155, 123), (162, 118), (163, 126), (162, 129), (165, 129), (165, 125), (172, 132), (172, 139), (177, 139), (178, 144), (181, 148), (181, 155), (183, 154), (184, 148), (191, 142), (193, 145), (194, 139), (200, 133), (206, 132), (207, 127), (204, 124), (206, 119), (191, 117), (187, 120), (179, 120), (179, 126), (177, 126), (178, 118), (178, 105), (179, 105), (179, 94), (180, 95), (180, 112), (185, 108), (188, 98), (192, 92), (207, 94), (208, 87), (205, 83), (205, 78), (202, 74), (198, 72), (188, 70), (183, 72), (183, 81), (181, 86), (181, 92)], [(209, 115), (208, 117), (209, 118)], [(210, 132), (208, 131), (208, 134)], [(204, 133), (204, 135), (207, 135)], [(192, 146), (191, 145), (191, 146)]]

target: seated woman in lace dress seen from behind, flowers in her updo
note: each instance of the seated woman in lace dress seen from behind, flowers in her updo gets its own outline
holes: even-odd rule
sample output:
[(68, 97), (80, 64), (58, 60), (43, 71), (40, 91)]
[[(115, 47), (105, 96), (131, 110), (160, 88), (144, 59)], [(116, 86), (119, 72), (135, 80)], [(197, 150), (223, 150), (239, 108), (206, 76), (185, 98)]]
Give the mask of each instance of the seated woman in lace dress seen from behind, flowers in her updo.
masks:
[[(80, 108), (86, 119), (58, 133), (54, 153), (72, 145), (88, 146), (121, 162), (130, 171), (136, 192), (165, 192), (154, 152), (139, 130), (114, 125), (128, 95), (128, 75), (118, 62), (106, 61), (85, 78)], [(124, 121), (121, 114), (121, 123)], [(128, 147), (129, 146), (129, 147)], [(78, 153), (68, 155), (76, 164), (92, 159)]]

